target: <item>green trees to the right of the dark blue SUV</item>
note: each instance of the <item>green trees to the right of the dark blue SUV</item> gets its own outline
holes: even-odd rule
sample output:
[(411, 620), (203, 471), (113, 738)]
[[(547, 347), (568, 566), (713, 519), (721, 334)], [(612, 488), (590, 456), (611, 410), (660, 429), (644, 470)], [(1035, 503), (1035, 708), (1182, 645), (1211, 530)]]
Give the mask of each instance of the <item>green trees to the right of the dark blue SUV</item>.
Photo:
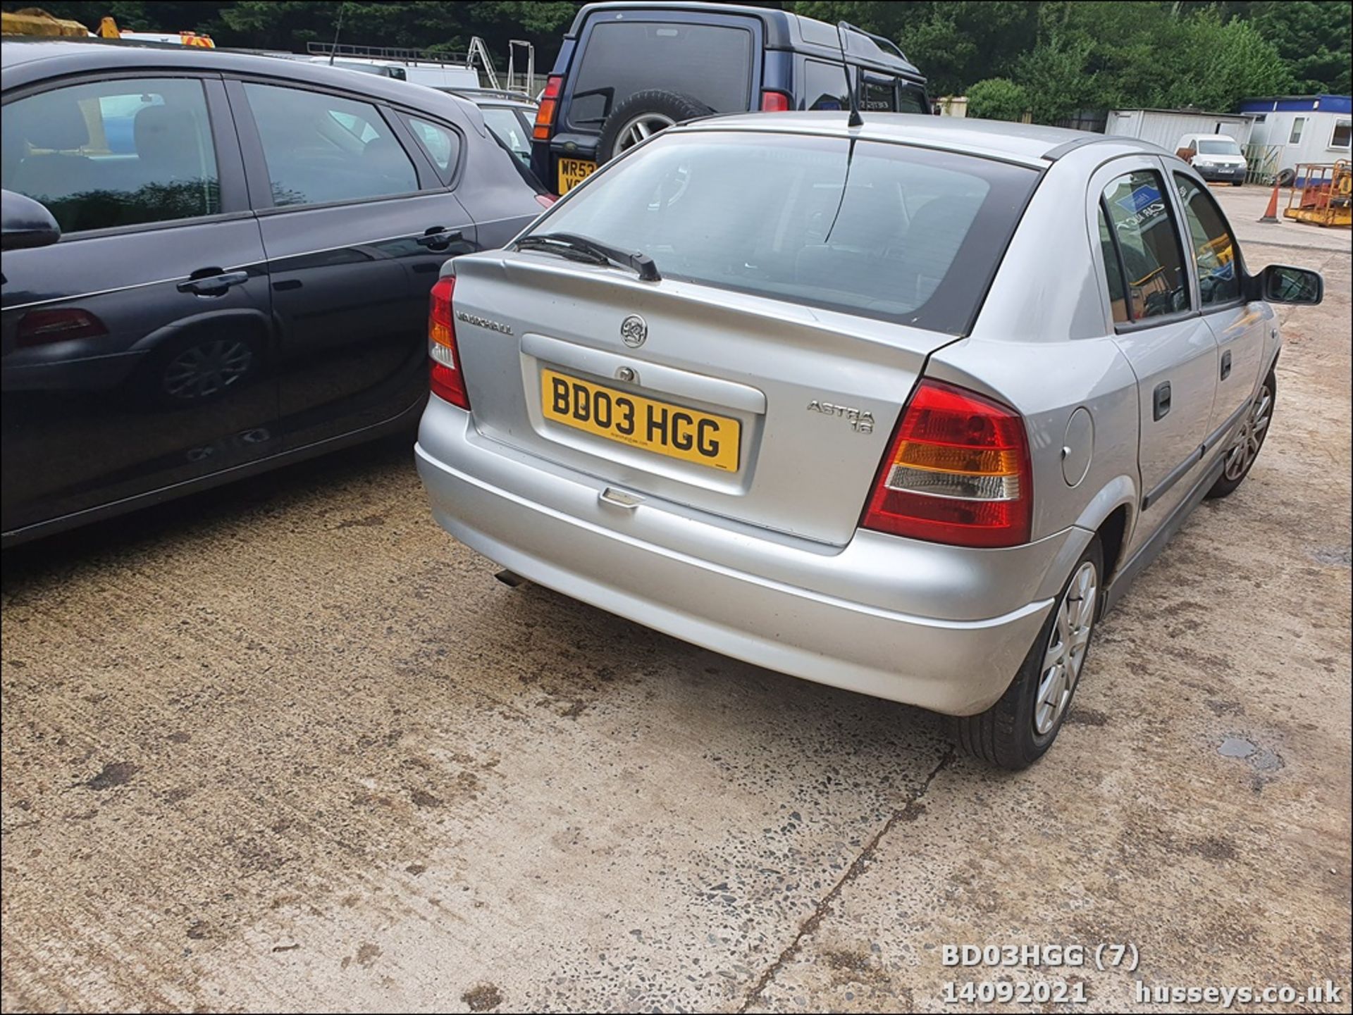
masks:
[[(1227, 111), (1253, 95), (1349, 92), (1342, 0), (1030, 0), (786, 4), (897, 39), (934, 95), (1020, 85), (1038, 122), (1080, 109)], [(984, 99), (985, 103), (985, 99)], [(970, 115), (974, 112), (970, 101)]]

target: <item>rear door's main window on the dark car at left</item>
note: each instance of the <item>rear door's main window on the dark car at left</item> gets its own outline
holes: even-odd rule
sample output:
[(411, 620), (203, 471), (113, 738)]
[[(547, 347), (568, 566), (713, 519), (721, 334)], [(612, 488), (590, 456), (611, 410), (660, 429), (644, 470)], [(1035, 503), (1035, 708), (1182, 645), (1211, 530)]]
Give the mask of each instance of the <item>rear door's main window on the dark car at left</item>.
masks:
[(272, 203), (327, 204), (418, 189), (418, 174), (369, 103), (245, 84), (272, 184)]

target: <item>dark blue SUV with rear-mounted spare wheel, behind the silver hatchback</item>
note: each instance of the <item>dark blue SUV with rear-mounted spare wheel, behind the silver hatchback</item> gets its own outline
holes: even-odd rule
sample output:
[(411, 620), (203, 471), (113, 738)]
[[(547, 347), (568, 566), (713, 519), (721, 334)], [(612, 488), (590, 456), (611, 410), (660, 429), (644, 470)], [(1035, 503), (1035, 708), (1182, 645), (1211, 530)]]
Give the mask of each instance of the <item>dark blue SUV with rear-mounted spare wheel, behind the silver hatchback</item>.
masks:
[[(844, 53), (844, 61), (843, 61)], [(713, 112), (931, 112), (925, 78), (881, 35), (766, 7), (587, 4), (547, 78), (532, 169), (566, 193), (653, 131)]]

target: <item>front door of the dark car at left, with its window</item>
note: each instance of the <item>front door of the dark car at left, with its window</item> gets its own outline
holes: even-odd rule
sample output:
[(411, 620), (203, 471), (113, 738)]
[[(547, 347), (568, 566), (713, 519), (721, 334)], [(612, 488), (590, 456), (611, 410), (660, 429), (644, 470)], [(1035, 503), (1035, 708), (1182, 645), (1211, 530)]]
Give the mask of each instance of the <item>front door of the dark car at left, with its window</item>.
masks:
[(62, 228), (4, 255), (7, 535), (275, 447), (262, 242), (219, 76), (12, 89), (3, 185)]

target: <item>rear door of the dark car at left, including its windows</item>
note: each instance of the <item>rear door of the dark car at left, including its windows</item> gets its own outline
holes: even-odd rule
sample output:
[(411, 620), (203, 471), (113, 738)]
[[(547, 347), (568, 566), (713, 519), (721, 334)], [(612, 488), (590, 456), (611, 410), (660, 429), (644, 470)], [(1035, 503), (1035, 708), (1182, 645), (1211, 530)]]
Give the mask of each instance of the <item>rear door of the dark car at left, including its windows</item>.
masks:
[(463, 137), (359, 93), (271, 78), (226, 89), (268, 261), (287, 447), (415, 422), (428, 293), (448, 257), (475, 247), (446, 182)]

